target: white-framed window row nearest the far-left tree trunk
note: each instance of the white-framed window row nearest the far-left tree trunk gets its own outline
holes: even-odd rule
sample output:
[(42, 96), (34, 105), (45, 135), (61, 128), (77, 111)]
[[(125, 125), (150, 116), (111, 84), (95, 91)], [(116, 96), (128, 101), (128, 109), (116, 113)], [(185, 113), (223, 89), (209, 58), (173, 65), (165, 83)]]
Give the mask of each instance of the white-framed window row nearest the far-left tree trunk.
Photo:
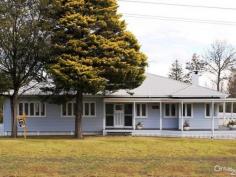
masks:
[(29, 117), (46, 117), (46, 104), (42, 102), (19, 102), (18, 115)]

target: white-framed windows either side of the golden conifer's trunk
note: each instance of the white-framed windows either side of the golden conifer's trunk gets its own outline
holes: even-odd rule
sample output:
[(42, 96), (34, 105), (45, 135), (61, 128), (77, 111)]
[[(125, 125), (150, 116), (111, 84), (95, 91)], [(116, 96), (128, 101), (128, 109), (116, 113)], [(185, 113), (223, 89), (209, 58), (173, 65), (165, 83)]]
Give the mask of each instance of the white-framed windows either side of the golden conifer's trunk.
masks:
[[(75, 102), (67, 102), (61, 105), (62, 117), (75, 117), (76, 104)], [(96, 102), (83, 102), (83, 117), (96, 117)]]

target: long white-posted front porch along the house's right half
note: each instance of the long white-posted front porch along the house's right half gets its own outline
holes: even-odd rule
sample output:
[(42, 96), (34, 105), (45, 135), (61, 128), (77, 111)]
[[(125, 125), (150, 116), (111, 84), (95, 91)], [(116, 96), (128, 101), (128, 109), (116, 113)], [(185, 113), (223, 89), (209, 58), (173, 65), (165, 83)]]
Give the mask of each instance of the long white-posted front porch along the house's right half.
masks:
[[(235, 99), (106, 98), (103, 134), (234, 137), (235, 131), (227, 128), (229, 120), (236, 120)], [(186, 121), (190, 131), (184, 131)], [(140, 122), (142, 130), (137, 129)]]

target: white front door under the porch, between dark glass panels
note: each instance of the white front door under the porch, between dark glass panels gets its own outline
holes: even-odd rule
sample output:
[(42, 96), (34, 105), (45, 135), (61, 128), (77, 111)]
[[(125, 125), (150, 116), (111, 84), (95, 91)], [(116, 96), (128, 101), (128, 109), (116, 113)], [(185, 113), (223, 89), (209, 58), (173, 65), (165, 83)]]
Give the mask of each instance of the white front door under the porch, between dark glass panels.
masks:
[(114, 105), (114, 127), (124, 127), (124, 105)]

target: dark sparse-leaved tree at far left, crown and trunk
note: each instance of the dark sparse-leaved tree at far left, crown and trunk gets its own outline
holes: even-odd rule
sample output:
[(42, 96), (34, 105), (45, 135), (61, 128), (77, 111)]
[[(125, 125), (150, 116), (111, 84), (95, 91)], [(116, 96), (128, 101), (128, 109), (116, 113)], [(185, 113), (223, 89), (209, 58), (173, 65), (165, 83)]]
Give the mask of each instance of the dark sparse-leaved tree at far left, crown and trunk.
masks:
[[(43, 18), (46, 0), (0, 2), (0, 73), (11, 90), (12, 136), (17, 136), (16, 105), (20, 90), (42, 77), (48, 32)], [(5, 82), (4, 81), (4, 82)], [(4, 83), (3, 83), (4, 85)]]

